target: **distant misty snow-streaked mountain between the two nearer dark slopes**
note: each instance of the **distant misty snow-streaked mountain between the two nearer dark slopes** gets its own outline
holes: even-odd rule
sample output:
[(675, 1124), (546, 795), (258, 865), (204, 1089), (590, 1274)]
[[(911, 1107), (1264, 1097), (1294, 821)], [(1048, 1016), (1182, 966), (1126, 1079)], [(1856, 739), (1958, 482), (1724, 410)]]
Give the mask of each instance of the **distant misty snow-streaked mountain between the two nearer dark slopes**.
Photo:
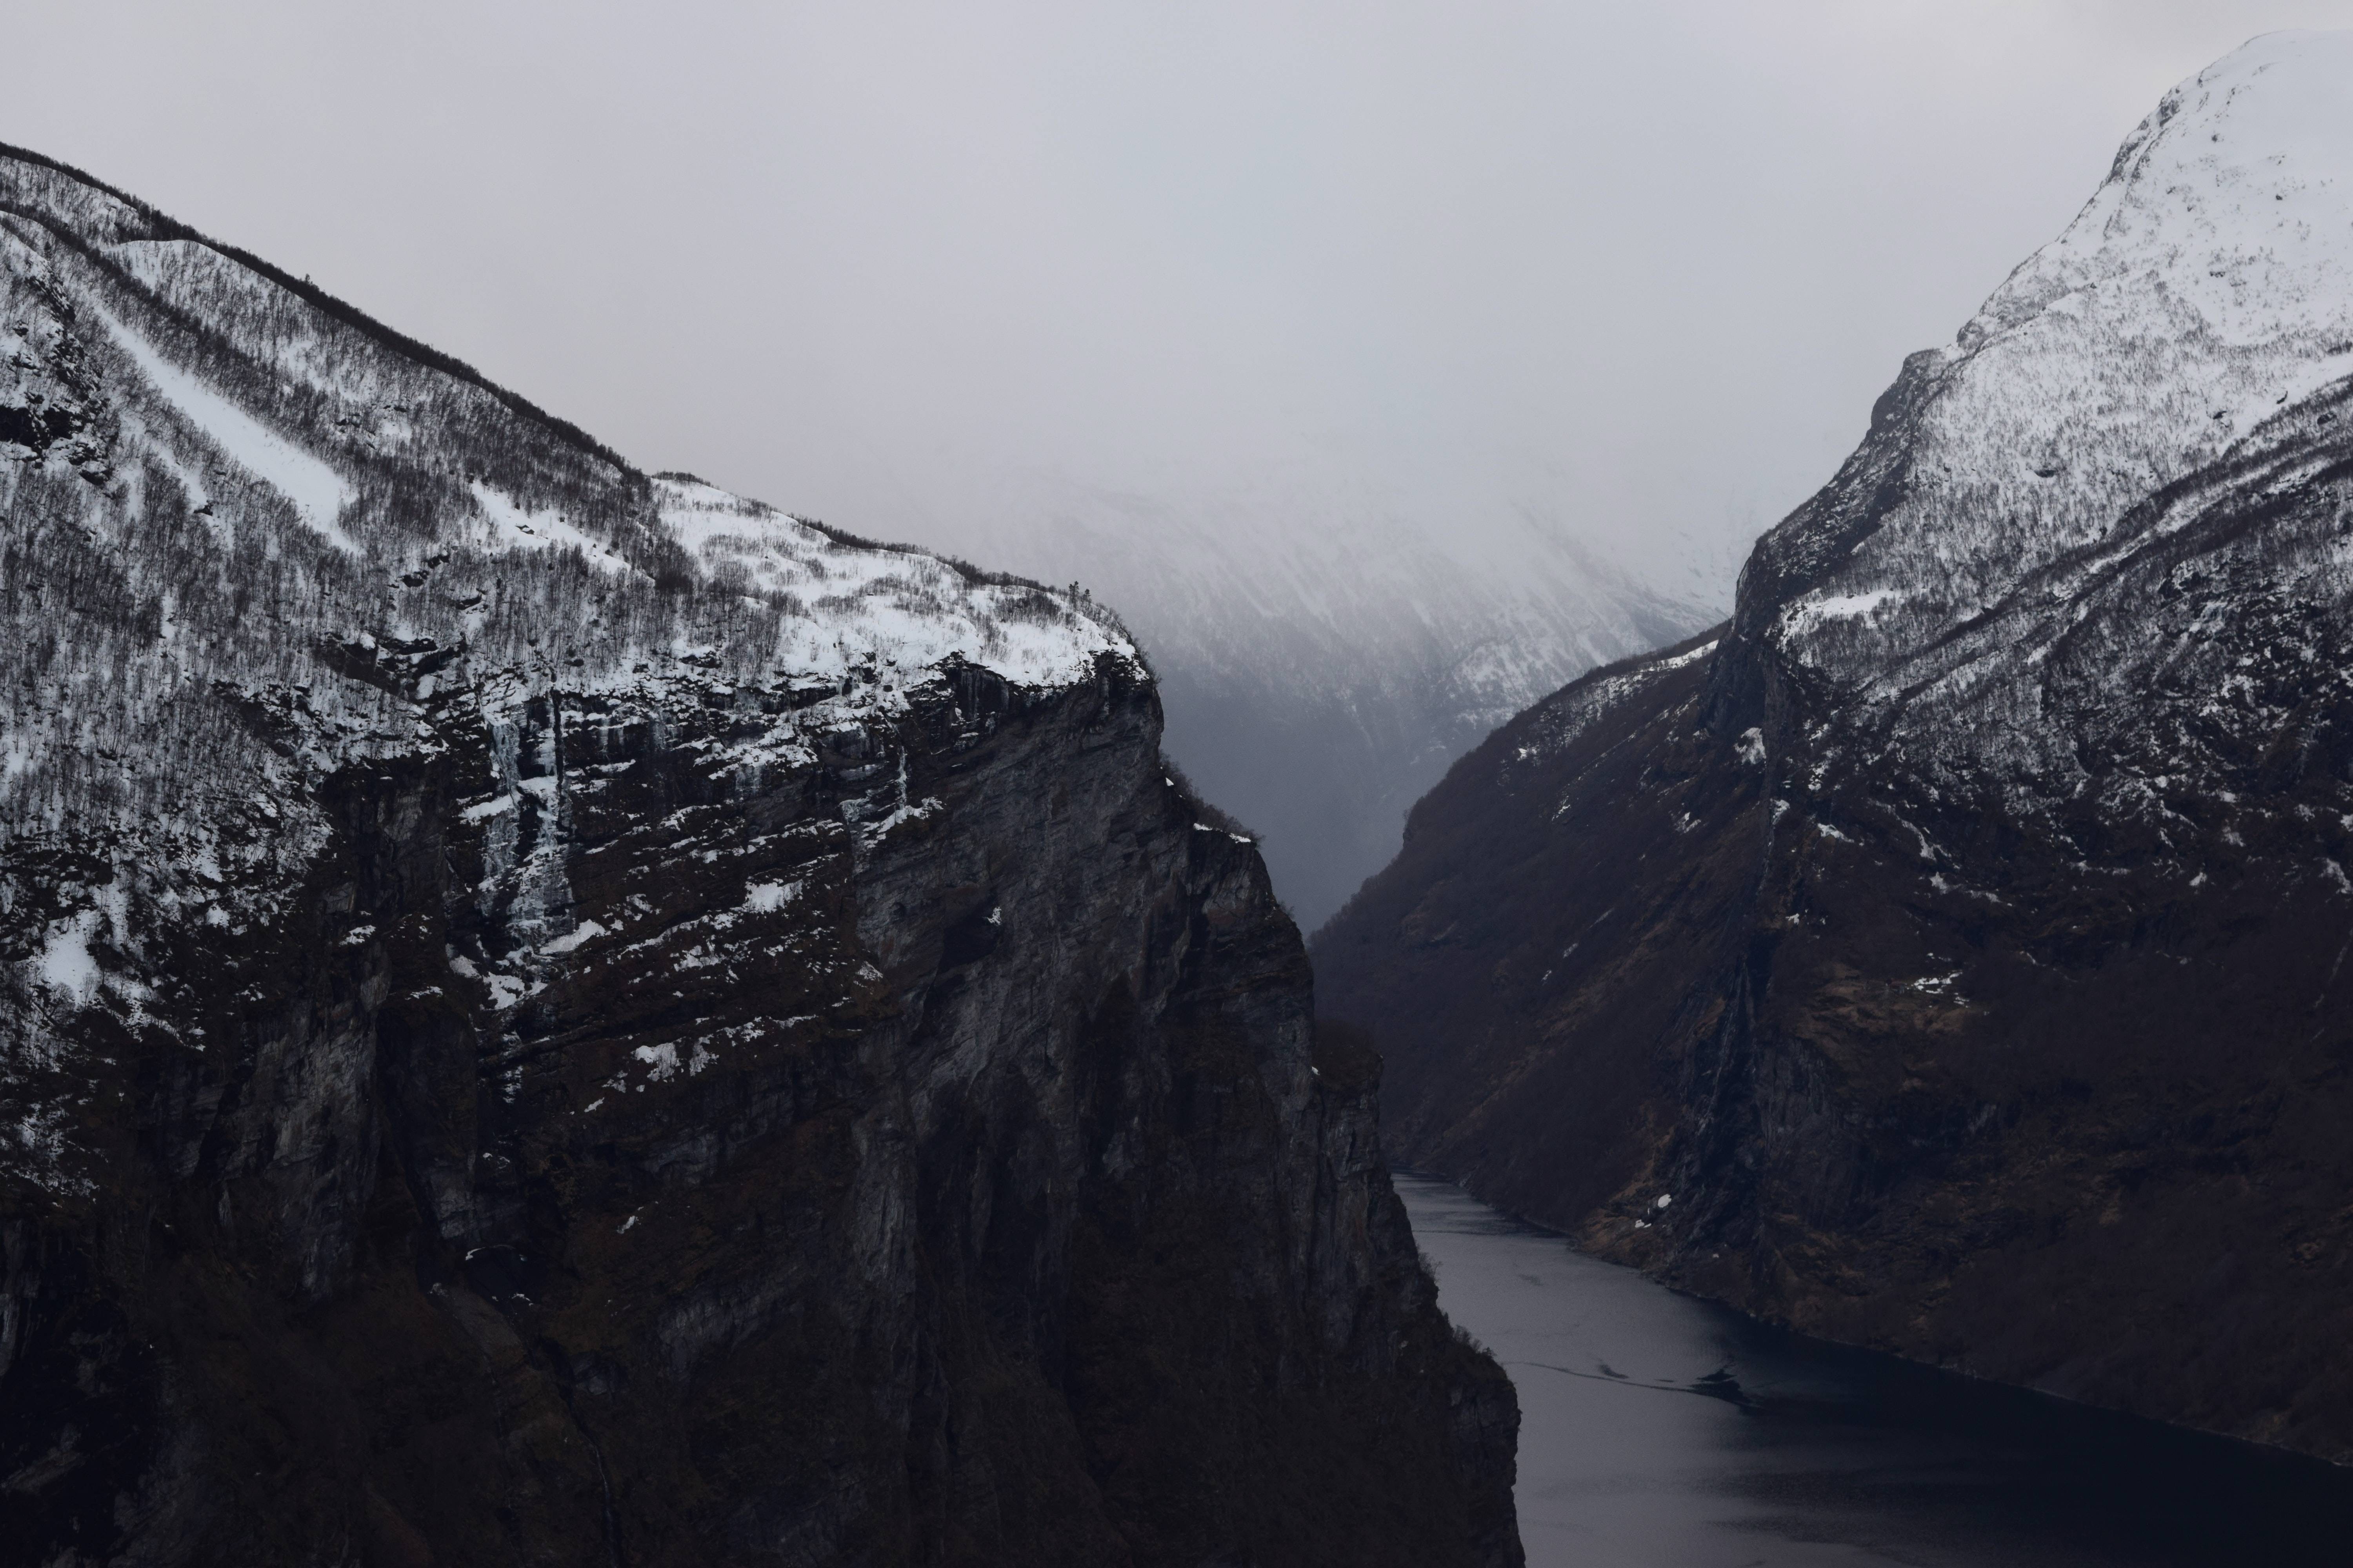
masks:
[(1574, 675), (1722, 616), (1737, 562), (1692, 543), (1666, 592), (1485, 475), (1344, 475), (1318, 454), (1245, 473), (1155, 496), (1000, 484), (955, 545), (1120, 609), (1169, 755), (1261, 835), (1306, 929), (1398, 851), (1447, 764)]

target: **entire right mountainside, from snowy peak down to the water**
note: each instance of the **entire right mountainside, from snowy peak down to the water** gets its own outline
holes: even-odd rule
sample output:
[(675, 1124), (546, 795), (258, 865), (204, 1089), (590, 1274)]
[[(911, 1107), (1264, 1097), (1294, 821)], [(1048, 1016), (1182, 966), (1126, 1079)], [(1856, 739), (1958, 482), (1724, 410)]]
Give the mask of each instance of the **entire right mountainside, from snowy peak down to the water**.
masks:
[(2353, 35), (2167, 94), (1729, 625), (1318, 938), (1393, 1147), (1812, 1333), (2353, 1460)]

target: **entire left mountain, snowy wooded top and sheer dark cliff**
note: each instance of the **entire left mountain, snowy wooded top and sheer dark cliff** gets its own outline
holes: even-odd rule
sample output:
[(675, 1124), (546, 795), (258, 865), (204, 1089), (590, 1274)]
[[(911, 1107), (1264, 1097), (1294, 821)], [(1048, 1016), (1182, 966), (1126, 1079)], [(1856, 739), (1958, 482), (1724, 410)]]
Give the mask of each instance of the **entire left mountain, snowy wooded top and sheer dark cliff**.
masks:
[(12, 1561), (1518, 1561), (1108, 614), (31, 155), (0, 287)]

